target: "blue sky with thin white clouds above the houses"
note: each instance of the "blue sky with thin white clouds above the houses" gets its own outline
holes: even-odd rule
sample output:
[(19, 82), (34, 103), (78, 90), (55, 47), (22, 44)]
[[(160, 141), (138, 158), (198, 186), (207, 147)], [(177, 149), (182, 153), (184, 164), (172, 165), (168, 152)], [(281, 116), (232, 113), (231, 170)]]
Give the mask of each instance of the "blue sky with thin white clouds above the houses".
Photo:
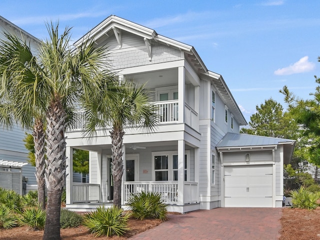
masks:
[(318, 9), (318, 0), (0, 1), (1, 16), (40, 39), (47, 20), (72, 26), (77, 40), (113, 14), (192, 45), (223, 76), (247, 121), (270, 97), (286, 108), (283, 85), (311, 97), (320, 76)]

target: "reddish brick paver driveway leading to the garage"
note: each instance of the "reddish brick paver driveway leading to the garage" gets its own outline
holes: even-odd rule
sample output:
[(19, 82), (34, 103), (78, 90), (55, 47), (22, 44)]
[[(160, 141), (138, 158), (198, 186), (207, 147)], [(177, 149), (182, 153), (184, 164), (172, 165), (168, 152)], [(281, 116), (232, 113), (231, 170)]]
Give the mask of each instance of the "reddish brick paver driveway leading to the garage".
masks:
[(169, 215), (169, 220), (130, 239), (277, 239), (282, 208), (221, 207)]

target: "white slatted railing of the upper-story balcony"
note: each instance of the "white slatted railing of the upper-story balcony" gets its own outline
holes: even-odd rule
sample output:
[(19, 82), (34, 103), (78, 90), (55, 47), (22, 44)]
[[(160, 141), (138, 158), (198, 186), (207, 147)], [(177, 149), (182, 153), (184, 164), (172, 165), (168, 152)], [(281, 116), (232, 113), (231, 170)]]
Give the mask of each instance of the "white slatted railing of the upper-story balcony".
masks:
[[(177, 100), (157, 101), (152, 103), (156, 106), (156, 113), (158, 115), (159, 124), (179, 122), (179, 107)], [(190, 107), (186, 103), (184, 104), (184, 106), (185, 123), (196, 129), (198, 121), (197, 112), (195, 112), (192, 107)], [(73, 125), (69, 126), (67, 128), (67, 131), (78, 131), (83, 129), (85, 118), (82, 110), (78, 110), (74, 113), (74, 119), (75, 121)]]

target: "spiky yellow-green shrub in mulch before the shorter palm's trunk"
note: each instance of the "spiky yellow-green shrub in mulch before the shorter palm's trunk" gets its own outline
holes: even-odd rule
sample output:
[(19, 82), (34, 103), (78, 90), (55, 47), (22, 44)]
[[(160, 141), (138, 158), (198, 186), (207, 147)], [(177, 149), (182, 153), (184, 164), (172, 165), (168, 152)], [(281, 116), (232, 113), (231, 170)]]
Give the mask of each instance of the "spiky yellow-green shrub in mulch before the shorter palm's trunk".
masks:
[(97, 207), (95, 211), (84, 214), (83, 225), (89, 228), (91, 233), (95, 236), (100, 235), (118, 235), (122, 236), (127, 227), (127, 220), (130, 217), (130, 213), (122, 215), (122, 209), (117, 206), (110, 208)]

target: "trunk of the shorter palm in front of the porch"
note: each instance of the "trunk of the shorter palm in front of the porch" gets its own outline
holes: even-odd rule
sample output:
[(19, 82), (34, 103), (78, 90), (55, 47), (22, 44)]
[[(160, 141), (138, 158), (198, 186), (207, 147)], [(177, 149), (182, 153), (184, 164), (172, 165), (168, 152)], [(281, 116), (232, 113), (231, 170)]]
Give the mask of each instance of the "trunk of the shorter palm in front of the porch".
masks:
[(112, 150), (112, 176), (113, 176), (113, 205), (121, 207), (121, 184), (123, 175), (123, 135), (121, 129), (110, 131)]

